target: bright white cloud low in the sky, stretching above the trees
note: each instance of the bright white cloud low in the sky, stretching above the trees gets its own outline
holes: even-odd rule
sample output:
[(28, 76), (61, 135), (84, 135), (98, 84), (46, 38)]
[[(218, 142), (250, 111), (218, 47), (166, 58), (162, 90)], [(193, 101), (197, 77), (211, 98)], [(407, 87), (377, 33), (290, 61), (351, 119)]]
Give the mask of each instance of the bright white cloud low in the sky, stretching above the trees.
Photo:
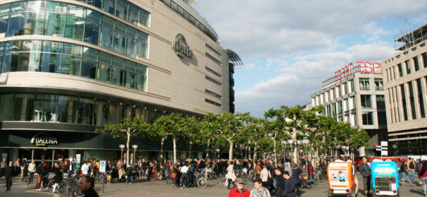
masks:
[(320, 52), (296, 56), (294, 64), (286, 60), (275, 64), (288, 65), (279, 76), (262, 81), (246, 91), (236, 92), (236, 111), (251, 112), (262, 117), (263, 112), (280, 105), (294, 106), (311, 102), (311, 95), (322, 88), (322, 81), (334, 72), (356, 61), (382, 61), (394, 54), (390, 44), (374, 42), (356, 44), (344, 51)]

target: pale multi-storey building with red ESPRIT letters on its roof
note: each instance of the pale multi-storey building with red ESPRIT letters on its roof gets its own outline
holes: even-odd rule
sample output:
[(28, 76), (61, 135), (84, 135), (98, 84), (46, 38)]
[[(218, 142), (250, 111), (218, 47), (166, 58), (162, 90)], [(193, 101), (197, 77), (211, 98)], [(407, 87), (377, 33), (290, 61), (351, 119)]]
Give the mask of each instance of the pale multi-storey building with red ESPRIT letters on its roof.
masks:
[(323, 105), (323, 115), (364, 129), (371, 137), (360, 155), (375, 155), (373, 145), (387, 139), (383, 76), (380, 64), (357, 62), (335, 72), (323, 81), (322, 90), (311, 95), (313, 107)]

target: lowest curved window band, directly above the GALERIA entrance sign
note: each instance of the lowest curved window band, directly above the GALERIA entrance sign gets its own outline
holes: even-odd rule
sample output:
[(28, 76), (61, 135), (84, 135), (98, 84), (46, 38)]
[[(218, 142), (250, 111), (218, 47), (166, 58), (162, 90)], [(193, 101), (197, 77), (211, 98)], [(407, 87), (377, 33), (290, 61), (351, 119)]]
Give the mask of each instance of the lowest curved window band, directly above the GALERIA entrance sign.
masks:
[(34, 121), (103, 126), (121, 119), (153, 121), (156, 112), (146, 107), (121, 105), (73, 95), (2, 93), (0, 121)]

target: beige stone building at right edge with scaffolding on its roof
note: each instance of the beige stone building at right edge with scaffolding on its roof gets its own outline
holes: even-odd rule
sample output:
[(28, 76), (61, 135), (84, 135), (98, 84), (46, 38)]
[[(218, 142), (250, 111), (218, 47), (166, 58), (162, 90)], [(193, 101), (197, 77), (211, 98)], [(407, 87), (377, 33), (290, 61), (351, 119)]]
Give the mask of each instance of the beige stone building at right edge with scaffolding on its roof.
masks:
[(383, 61), (389, 146), (395, 155), (427, 152), (427, 24), (399, 37), (400, 52)]

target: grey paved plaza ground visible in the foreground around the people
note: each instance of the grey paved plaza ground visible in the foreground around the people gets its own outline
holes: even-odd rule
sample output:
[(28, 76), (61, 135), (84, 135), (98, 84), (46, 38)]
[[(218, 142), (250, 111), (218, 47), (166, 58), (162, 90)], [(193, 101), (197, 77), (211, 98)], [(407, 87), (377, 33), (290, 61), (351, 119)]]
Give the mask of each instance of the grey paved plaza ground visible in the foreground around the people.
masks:
[[(360, 175), (359, 182), (361, 182)], [(246, 181), (245, 188), (249, 191), (253, 188), (253, 184), (249, 181)], [(225, 186), (219, 186), (216, 181), (210, 181), (208, 187), (205, 189), (199, 188), (188, 188), (188, 189), (176, 189), (169, 184), (166, 184), (166, 181), (141, 181), (133, 184), (124, 184), (124, 183), (113, 183), (106, 184), (104, 188), (104, 193), (102, 193), (102, 185), (97, 184), (95, 186), (96, 191), (100, 196), (188, 196), (188, 197), (214, 197), (214, 196), (228, 196), (229, 190)], [(303, 197), (315, 197), (315, 196), (327, 196), (327, 181), (319, 182), (317, 185), (313, 186), (311, 189), (301, 189), (303, 191)], [(59, 197), (59, 194), (52, 194), (49, 192), (36, 191), (34, 189), (34, 184), (27, 186), (26, 183), (20, 181), (20, 179), (15, 179), (11, 191), (5, 191), (5, 181), (4, 179), (0, 180), (0, 196), (34, 196), (34, 197)], [(364, 197), (362, 189), (359, 191), (359, 197)], [(413, 197), (413, 196), (423, 196), (423, 187), (422, 186), (403, 186), (400, 188), (401, 197)]]

